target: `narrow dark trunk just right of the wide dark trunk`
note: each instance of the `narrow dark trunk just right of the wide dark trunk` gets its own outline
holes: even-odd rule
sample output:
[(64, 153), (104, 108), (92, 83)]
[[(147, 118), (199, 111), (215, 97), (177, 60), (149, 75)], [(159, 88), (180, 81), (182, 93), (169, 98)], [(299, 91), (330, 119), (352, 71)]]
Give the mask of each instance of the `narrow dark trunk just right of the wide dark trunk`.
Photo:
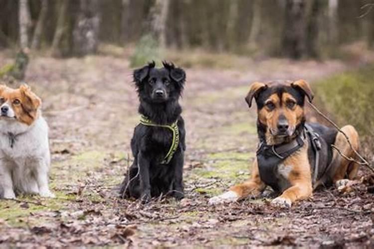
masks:
[(307, 26), (307, 38), (305, 40), (306, 53), (313, 58), (319, 57), (318, 36), (319, 36), (319, 14), (321, 12), (321, 0), (313, 0), (309, 21)]

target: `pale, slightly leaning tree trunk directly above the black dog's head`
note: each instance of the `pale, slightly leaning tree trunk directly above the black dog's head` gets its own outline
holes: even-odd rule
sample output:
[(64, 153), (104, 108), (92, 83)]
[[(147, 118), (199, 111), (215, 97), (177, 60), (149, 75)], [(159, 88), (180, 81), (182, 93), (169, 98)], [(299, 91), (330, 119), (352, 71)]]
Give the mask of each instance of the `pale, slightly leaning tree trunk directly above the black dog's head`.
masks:
[(153, 7), (152, 32), (160, 47), (166, 47), (166, 21), (169, 12), (169, 0), (156, 0)]

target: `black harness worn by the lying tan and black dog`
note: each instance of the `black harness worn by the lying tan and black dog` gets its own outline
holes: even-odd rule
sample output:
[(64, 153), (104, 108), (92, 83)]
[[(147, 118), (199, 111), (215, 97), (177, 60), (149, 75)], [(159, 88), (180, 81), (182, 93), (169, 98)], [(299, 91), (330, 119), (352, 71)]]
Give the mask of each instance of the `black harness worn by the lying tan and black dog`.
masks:
[(277, 179), (278, 165), (292, 153), (304, 146), (306, 136), (310, 139), (315, 154), (315, 165), (313, 174), (313, 184), (318, 177), (319, 150), (321, 149), (321, 141), (319, 135), (313, 128), (305, 124), (303, 132), (295, 139), (288, 143), (277, 145), (267, 145), (264, 141), (259, 143), (256, 152), (258, 170), (261, 180), (272, 187), (275, 191), (280, 191)]

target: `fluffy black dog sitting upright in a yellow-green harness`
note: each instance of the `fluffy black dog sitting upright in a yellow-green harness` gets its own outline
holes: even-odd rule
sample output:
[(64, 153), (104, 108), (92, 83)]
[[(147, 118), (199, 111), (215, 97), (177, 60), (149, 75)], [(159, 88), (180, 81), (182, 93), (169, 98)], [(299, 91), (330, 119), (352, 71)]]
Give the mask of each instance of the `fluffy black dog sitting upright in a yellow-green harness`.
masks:
[(186, 81), (186, 73), (172, 63), (155, 62), (134, 71), (139, 95), (141, 122), (131, 139), (134, 163), (121, 184), (123, 198), (171, 195), (184, 198), (183, 164), (185, 123), (178, 103)]

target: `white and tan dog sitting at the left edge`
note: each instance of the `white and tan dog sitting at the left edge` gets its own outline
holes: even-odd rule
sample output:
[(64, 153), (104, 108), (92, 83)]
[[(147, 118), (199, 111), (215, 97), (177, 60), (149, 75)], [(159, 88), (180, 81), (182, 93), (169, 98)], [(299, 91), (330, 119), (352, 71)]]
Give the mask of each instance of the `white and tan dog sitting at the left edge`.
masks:
[(48, 188), (48, 125), (30, 88), (0, 86), (0, 197), (54, 197)]

